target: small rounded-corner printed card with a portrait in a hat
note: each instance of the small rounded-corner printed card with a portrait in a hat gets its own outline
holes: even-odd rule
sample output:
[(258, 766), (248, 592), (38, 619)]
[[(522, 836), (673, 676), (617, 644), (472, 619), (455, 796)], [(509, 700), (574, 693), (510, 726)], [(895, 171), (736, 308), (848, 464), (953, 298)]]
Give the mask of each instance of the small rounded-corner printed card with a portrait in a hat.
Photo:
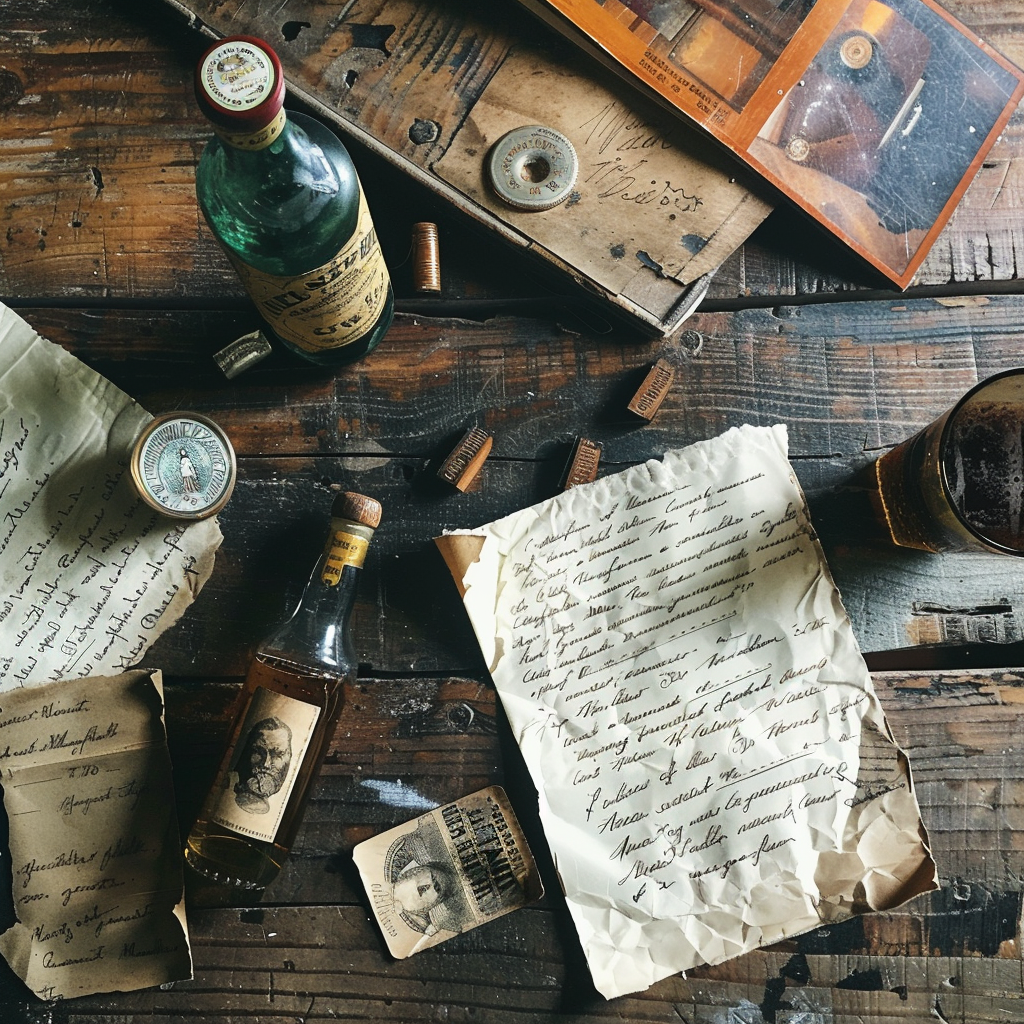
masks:
[(399, 959), (544, 895), (500, 786), (375, 836), (352, 856), (388, 949)]

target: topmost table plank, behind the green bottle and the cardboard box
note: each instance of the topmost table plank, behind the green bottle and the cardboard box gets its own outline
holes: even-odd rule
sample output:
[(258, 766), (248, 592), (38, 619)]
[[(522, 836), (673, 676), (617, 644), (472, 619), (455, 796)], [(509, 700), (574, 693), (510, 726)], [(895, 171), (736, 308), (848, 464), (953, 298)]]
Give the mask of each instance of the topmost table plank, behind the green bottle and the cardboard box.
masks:
[[(1024, 60), (1019, 5), (962, 0), (949, 6), (1009, 56)], [(303, 20), (293, 19), (299, 26)], [(425, 38), (428, 29), (439, 33), (438, 25), (439, 15), (424, 18)], [(514, 31), (534, 38), (540, 30), (522, 17)], [(300, 31), (300, 46), (301, 40)], [(240, 308), (245, 305), (196, 205), (195, 164), (208, 137), (190, 85), (201, 45), (159, 8), (129, 9), (114, 0), (8, 0), (0, 23), (0, 110), (9, 139), (0, 146), (0, 295), (79, 301), (232, 296)], [(372, 48), (358, 52), (366, 63)], [(471, 46), (450, 56), (458, 54), (466, 66), (461, 84), (485, 70), (484, 57), (494, 61), (494, 54)], [(361, 67), (346, 66), (346, 72), (358, 75)], [(401, 131), (408, 134), (409, 124), (390, 123), (381, 112), (370, 120), (396, 145)], [(400, 144), (416, 156), (412, 140)], [(417, 308), (528, 297), (545, 299), (550, 316), (553, 306), (579, 305), (557, 276), (539, 276), (530, 261), (489, 232), (467, 234), (450, 204), (362, 147), (355, 152), (372, 207), (382, 214), (378, 227), (399, 301), (413, 295), (410, 227), (432, 219), (442, 231), (444, 292), (439, 300), (417, 299)], [(946, 292), (1017, 287), (1022, 155), (1024, 115), (1018, 112), (926, 262), (922, 285)], [(709, 301), (763, 304), (766, 298), (877, 286), (841, 247), (786, 211), (773, 214), (718, 272)]]

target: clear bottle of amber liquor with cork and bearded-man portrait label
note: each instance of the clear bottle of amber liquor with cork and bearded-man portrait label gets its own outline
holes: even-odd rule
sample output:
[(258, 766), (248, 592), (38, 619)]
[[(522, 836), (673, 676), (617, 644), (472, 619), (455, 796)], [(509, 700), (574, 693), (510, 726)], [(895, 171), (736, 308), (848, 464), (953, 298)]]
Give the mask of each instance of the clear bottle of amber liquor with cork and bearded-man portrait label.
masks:
[(227, 749), (185, 842), (185, 861), (225, 885), (263, 889), (302, 821), (357, 660), (348, 627), (380, 504), (346, 492), (292, 616), (256, 648)]

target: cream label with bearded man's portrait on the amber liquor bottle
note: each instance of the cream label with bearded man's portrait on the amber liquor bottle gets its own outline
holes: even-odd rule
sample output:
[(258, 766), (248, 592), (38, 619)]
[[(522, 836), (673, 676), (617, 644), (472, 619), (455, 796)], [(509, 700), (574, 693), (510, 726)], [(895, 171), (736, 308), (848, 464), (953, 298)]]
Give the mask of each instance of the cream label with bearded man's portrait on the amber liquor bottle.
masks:
[(243, 836), (273, 842), (318, 718), (314, 705), (257, 687), (204, 817)]

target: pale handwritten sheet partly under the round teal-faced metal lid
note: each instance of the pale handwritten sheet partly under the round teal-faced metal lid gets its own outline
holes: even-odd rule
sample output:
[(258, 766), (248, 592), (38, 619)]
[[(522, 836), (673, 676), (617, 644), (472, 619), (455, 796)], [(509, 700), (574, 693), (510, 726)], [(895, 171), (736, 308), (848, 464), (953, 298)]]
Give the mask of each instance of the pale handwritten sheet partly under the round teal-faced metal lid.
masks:
[(0, 304), (0, 692), (137, 665), (213, 570), (216, 521), (132, 488), (152, 419)]

